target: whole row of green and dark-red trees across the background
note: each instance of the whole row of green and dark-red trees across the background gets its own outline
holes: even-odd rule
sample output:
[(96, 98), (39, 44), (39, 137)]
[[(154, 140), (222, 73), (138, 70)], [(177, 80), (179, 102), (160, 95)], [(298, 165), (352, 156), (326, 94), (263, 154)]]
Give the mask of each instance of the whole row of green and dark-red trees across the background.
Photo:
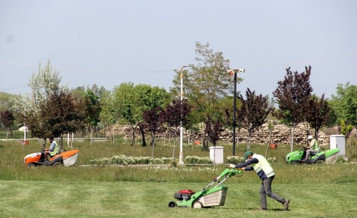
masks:
[[(37, 72), (33, 72), (30, 78), (31, 96), (15, 96), (13, 101), (8, 101), (10, 104), (7, 107), (15, 117), (22, 116), (22, 122), (30, 127), (32, 136), (45, 139), (43, 146), (50, 135), (62, 137), (76, 130), (89, 129), (92, 139), (93, 128), (97, 125), (108, 128), (110, 141), (113, 142), (113, 126), (128, 124), (131, 144), (136, 144), (135, 133), (139, 130), (141, 144), (146, 146), (145, 136), (150, 133), (154, 152), (157, 131), (173, 129), (176, 138), (177, 128), (182, 122), (187, 130), (204, 125), (203, 149), (208, 150), (209, 142), (215, 145), (218, 141), (221, 129), (232, 126), (234, 84), (233, 77), (227, 73), (230, 61), (221, 52), (211, 50), (209, 43), (203, 45), (196, 42), (195, 53), (196, 64), (189, 65), (182, 72), (176, 70), (170, 92), (158, 86), (134, 85), (132, 82), (121, 83), (111, 92), (96, 84), (91, 88), (79, 86), (68, 90), (66, 86), (60, 86), (59, 72), (52, 70), (48, 61), (43, 67), (39, 64)], [(179, 100), (181, 73), (184, 78), (183, 102)], [(241, 128), (248, 130), (247, 149), (250, 137), (269, 114), (291, 127), (291, 150), (298, 123), (303, 124), (306, 135), (315, 134), (316, 138), (320, 129), (329, 124), (339, 124), (341, 133), (348, 133), (351, 127), (356, 127), (356, 86), (338, 84), (336, 96), (331, 99), (326, 99), (324, 95), (317, 97), (312, 93), (310, 75), (311, 66), (305, 67), (301, 73), (292, 71), (290, 67), (286, 69), (284, 79), (277, 82), (273, 92), (278, 105), (276, 110), (269, 97), (255, 94), (250, 89), (247, 89), (245, 98), (238, 95), (238, 135)], [(238, 78), (238, 83), (241, 80)], [(0, 95), (0, 100), (2, 97)], [(6, 115), (0, 121), (5, 126), (3, 117)]]

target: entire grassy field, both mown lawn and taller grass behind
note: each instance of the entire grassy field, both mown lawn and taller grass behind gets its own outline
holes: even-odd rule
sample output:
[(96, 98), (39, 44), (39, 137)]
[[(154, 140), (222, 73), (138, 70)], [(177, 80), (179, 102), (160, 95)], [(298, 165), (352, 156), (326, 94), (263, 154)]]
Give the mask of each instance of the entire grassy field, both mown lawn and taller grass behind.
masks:
[[(225, 147), (225, 157), (232, 148)], [(282, 211), (268, 198), (268, 211), (260, 207), (260, 180), (254, 172), (230, 178), (226, 204), (207, 209), (168, 208), (181, 189), (200, 191), (227, 165), (186, 167), (81, 166), (101, 157), (151, 156), (151, 147), (131, 147), (124, 140), (110, 145), (75, 142), (80, 149), (71, 167), (35, 167), (23, 164), (26, 154), (40, 150), (38, 143), (0, 142), (0, 217), (357, 217), (357, 164), (287, 165), (287, 146), (269, 152), (276, 171), (273, 191), (291, 199)], [(159, 144), (155, 157), (170, 157), (172, 146)], [(265, 146), (253, 145), (256, 153)], [(296, 146), (296, 149), (299, 147)], [(68, 148), (66, 148), (68, 149)], [(178, 157), (178, 150), (176, 157)], [(244, 146), (237, 151), (242, 156)], [(200, 146), (187, 146), (184, 155), (209, 156)]]

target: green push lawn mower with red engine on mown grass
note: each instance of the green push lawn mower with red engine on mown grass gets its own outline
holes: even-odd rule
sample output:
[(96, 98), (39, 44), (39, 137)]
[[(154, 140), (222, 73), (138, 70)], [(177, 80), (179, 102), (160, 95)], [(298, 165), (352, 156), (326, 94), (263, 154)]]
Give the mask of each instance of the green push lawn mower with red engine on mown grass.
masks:
[[(181, 190), (174, 194), (174, 198), (179, 201), (168, 202), (168, 207), (212, 207), (212, 206), (223, 206), (226, 202), (228, 187), (221, 185), (228, 178), (233, 177), (238, 173), (239, 176), (242, 174), (242, 170), (235, 168), (226, 168), (220, 175), (215, 178), (208, 186), (206, 186), (202, 191), (194, 192), (190, 189)], [(222, 178), (222, 179), (221, 179)], [(219, 181), (219, 179), (221, 179)], [(213, 188), (211, 188), (215, 185)]]

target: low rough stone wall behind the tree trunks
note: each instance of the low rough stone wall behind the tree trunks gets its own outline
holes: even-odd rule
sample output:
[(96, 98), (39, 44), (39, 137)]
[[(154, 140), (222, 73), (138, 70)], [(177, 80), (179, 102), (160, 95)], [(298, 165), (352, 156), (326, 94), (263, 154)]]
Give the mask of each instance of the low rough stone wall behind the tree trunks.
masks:
[[(124, 135), (124, 138), (130, 138), (130, 126), (117, 126), (116, 128), (116, 134), (119, 135)], [(310, 130), (310, 133), (313, 133), (313, 129)], [(273, 144), (289, 144), (289, 132), (290, 129), (286, 125), (283, 124), (276, 124), (274, 127), (274, 130), (272, 132), (272, 143)], [(107, 133), (109, 135), (109, 133)], [(136, 131), (136, 137), (141, 137), (139, 129)], [(163, 139), (166, 134), (166, 140), (168, 140), (170, 137), (171, 139), (174, 138), (174, 129), (171, 131), (166, 130), (165, 133), (159, 133), (157, 134), (157, 138)], [(191, 133), (189, 134), (188, 132), (185, 131), (184, 129), (184, 137), (187, 138), (190, 136), (190, 140), (194, 141), (201, 141), (202, 140), (202, 134), (203, 134), (203, 129), (201, 132), (196, 132), (196, 133)], [(220, 136), (220, 141), (221, 142), (227, 142), (227, 143), (232, 143), (232, 130), (225, 130), (221, 136)], [(333, 128), (324, 128), (319, 131), (319, 144), (320, 145), (329, 145), (329, 136), (330, 135), (335, 135), (338, 134), (338, 128), (333, 127)], [(177, 129), (177, 134), (176, 137), (180, 137), (180, 129)], [(306, 143), (306, 132), (303, 130), (303, 125), (299, 124), (295, 127), (295, 132), (294, 132), (294, 142), (297, 144), (305, 144)], [(236, 129), (236, 140), (238, 139), (238, 129)], [(246, 143), (248, 139), (248, 134), (247, 130), (241, 129), (239, 133), (239, 141), (241, 143)], [(267, 143), (269, 140), (269, 130), (267, 128), (266, 124), (263, 124), (250, 138), (251, 143)]]

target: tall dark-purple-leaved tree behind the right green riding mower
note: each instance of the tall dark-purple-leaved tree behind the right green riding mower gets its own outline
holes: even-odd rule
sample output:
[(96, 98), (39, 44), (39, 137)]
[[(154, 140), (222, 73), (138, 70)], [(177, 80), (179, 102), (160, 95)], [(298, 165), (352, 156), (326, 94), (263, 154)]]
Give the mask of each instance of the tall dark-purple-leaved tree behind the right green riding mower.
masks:
[(293, 151), (295, 126), (303, 120), (307, 102), (313, 92), (310, 85), (311, 66), (305, 67), (304, 72), (292, 72), (286, 69), (284, 80), (278, 81), (278, 87), (273, 92), (277, 99), (279, 110), (275, 116), (292, 128), (290, 149)]

